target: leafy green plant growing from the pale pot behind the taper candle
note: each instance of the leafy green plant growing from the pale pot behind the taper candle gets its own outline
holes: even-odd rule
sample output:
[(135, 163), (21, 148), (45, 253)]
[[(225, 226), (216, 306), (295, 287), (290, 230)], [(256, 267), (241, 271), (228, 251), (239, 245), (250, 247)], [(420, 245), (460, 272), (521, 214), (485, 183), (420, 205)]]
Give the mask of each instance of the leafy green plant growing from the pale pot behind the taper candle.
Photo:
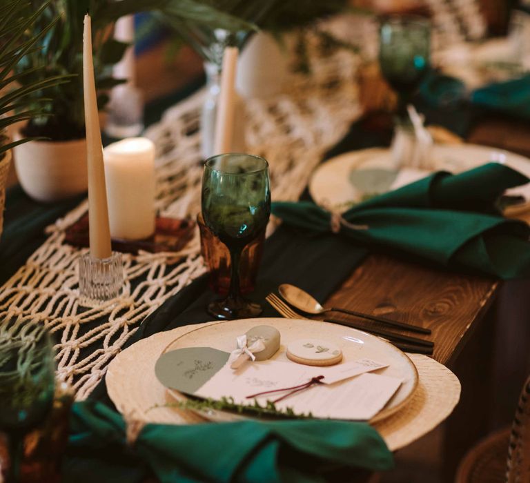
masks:
[[(48, 90), (46, 95), (51, 102), (45, 107), (47, 115), (33, 117), (24, 130), (26, 135), (55, 141), (80, 139), (85, 135), (82, 48), (86, 12), (92, 17), (94, 69), (99, 92), (124, 81), (114, 79), (111, 72), (112, 65), (121, 59), (128, 47), (112, 38), (112, 28), (119, 17), (156, 10), (167, 19), (186, 19), (230, 32), (252, 28), (245, 21), (216, 10), (210, 0), (29, 0), (27, 3), (26, 11), (41, 11), (35, 23), (26, 30), (27, 40), (36, 39), (38, 48), (29, 50), (19, 59), (17, 75), (26, 72), (19, 81), (28, 86), (59, 75), (72, 76), (68, 82)], [(55, 18), (58, 21), (50, 27), (50, 21)], [(43, 92), (32, 90), (29, 96), (38, 105)], [(107, 100), (106, 95), (101, 94), (99, 107), (102, 108)]]

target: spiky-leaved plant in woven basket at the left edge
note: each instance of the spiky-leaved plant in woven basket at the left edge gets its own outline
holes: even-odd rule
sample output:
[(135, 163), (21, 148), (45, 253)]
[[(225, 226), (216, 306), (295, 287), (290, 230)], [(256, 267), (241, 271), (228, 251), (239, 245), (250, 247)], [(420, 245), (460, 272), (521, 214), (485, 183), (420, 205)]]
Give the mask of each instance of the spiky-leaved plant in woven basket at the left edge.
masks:
[(35, 49), (53, 27), (53, 21), (48, 22), (39, 35), (25, 38), (25, 32), (39, 21), (46, 8), (44, 4), (40, 9), (28, 10), (28, 4), (28, 1), (21, 0), (2, 0), (0, 3), (0, 235), (12, 148), (30, 141), (28, 137), (12, 141), (10, 130), (16, 124), (44, 115), (46, 99), (41, 97), (35, 101), (32, 99), (35, 92), (45, 92), (47, 88), (65, 81), (63, 76), (35, 79), (28, 70), (14, 72), (17, 63)]

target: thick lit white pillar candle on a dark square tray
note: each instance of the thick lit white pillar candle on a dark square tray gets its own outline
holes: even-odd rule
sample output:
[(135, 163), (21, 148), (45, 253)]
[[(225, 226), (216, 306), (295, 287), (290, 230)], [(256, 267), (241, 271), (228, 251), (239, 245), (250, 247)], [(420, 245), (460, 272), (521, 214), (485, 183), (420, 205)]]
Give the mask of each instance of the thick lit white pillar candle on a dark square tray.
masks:
[(131, 137), (104, 150), (110, 234), (144, 239), (155, 232), (155, 145)]

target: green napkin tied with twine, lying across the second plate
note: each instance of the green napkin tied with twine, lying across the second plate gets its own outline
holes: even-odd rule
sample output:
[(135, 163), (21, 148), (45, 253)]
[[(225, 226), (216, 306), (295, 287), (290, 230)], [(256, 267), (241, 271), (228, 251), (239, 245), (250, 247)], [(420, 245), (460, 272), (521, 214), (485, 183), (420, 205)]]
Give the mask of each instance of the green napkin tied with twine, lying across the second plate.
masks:
[[(529, 226), (500, 215), (504, 190), (529, 179), (490, 163), (459, 175), (437, 172), (342, 213), (340, 233), (368, 248), (504, 279), (530, 275)], [(273, 203), (284, 223), (332, 230), (331, 213), (311, 202)]]

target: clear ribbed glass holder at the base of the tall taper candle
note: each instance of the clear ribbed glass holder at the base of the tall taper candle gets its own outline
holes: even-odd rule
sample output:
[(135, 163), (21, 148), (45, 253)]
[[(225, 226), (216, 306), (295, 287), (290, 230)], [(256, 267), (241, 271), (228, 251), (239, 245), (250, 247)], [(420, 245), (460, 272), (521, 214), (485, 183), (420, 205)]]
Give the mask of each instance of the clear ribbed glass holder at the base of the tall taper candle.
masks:
[(79, 258), (79, 295), (81, 305), (99, 306), (119, 297), (124, 285), (121, 253), (108, 258), (95, 258), (87, 253)]

